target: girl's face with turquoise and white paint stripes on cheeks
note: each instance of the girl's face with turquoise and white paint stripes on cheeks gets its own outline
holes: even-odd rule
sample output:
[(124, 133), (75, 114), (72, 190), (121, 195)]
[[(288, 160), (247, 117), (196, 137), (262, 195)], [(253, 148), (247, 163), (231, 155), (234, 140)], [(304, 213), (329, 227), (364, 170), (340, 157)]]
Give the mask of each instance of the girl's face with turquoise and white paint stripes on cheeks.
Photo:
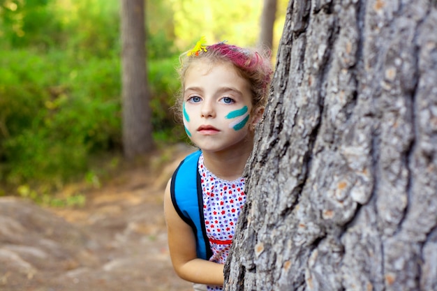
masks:
[(228, 63), (195, 61), (186, 71), (183, 115), (188, 137), (202, 151), (237, 150), (262, 110), (252, 107), (247, 82)]

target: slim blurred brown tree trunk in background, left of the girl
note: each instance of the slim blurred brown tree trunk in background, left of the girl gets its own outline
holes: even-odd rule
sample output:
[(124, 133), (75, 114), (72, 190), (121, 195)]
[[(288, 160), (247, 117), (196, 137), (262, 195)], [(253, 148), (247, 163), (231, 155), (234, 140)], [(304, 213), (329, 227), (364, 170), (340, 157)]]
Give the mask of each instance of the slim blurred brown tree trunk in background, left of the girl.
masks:
[(147, 88), (145, 1), (121, 0), (123, 145), (127, 158), (153, 147)]

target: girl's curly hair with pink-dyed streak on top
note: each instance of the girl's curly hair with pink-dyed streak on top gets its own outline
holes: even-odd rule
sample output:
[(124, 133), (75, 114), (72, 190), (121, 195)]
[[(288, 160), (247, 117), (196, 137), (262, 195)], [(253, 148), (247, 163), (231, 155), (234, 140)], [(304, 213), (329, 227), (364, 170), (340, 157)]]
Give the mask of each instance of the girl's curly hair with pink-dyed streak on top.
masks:
[[(244, 77), (251, 85), (253, 107), (264, 107), (266, 105), (273, 73), (270, 50), (251, 50), (236, 45), (228, 45), (225, 42), (208, 45), (206, 48), (206, 52), (200, 50), (198, 54), (191, 54), (191, 56), (188, 56), (185, 52), (179, 57), (181, 66), (178, 71), (182, 85), (184, 84), (186, 71), (195, 61), (207, 59), (212, 63), (230, 62), (235, 66), (239, 75)], [(183, 94), (181, 95), (183, 96)], [(177, 107), (180, 108), (182, 108), (182, 96), (178, 98)]]

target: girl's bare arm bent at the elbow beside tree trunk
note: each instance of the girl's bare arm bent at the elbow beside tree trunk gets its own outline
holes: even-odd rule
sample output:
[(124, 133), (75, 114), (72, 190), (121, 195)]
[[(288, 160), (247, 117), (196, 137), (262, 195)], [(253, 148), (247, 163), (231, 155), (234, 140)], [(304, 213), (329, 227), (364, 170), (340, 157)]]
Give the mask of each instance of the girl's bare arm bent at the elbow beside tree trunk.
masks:
[(193, 230), (179, 217), (173, 206), (170, 196), (170, 181), (165, 188), (164, 215), (173, 268), (177, 275), (186, 281), (221, 286), (224, 281), (223, 264), (209, 262), (197, 257)]

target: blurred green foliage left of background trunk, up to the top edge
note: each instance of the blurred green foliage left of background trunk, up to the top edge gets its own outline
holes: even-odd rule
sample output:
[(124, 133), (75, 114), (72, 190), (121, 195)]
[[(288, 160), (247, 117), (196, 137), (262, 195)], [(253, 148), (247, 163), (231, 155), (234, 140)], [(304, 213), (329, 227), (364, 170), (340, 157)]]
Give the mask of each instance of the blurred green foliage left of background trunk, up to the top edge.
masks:
[(45, 195), (121, 147), (119, 7), (0, 5), (0, 182), (36, 182)]

